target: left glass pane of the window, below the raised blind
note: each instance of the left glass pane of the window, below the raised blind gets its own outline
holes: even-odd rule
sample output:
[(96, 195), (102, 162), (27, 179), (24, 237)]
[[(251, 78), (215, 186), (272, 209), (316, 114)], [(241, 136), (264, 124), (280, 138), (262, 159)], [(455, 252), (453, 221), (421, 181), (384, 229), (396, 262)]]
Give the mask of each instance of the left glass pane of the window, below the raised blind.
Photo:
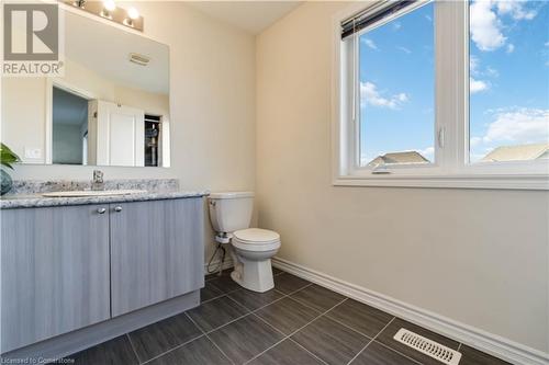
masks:
[(433, 8), (359, 35), (360, 167), (435, 160)]

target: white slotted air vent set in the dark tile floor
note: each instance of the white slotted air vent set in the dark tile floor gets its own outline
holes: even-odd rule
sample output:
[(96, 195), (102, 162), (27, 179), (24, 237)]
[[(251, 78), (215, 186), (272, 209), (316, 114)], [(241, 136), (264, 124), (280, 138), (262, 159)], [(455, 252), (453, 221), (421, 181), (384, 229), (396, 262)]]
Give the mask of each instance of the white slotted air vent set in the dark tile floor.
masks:
[(403, 328), (396, 332), (393, 339), (444, 364), (458, 365), (461, 360), (461, 353), (456, 350), (451, 350)]

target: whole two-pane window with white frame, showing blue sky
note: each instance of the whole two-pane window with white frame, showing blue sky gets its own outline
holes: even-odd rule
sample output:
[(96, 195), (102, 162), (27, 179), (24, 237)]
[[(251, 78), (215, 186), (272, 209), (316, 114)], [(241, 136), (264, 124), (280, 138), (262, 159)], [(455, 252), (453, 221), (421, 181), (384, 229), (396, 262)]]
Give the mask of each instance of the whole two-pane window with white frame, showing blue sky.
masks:
[(549, 189), (549, 3), (351, 7), (336, 26), (335, 184)]

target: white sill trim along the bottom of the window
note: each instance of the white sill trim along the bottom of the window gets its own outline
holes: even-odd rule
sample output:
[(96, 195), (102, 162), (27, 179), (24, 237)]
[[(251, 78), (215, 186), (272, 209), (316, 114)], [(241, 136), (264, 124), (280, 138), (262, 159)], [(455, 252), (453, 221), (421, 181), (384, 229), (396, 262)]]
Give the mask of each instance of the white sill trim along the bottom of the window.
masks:
[(334, 186), (549, 190), (549, 175), (341, 175)]

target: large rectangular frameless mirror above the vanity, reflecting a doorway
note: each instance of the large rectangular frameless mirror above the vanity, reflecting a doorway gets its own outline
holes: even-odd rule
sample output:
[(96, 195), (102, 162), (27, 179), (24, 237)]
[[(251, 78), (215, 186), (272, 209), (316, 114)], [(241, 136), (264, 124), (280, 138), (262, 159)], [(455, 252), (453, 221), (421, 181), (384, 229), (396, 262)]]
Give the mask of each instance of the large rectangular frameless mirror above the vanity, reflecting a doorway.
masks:
[(65, 11), (65, 75), (2, 79), (2, 141), (25, 163), (169, 167), (169, 48)]

